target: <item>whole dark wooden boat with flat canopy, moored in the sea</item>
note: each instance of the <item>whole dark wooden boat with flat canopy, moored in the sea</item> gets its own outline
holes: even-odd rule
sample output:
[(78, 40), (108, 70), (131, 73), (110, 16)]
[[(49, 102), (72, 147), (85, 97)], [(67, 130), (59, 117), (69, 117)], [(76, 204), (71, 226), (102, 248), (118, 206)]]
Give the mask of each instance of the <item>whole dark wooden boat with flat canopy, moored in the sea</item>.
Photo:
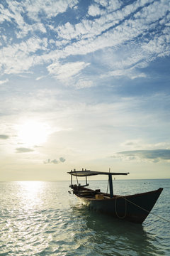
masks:
[[(145, 193), (119, 196), (113, 193), (112, 176), (128, 175), (128, 172), (113, 173), (111, 171), (90, 171), (86, 169), (76, 171), (74, 169), (74, 171), (69, 171), (68, 174), (71, 175), (71, 184), (69, 187), (72, 188), (73, 194), (86, 204), (86, 206), (89, 206), (91, 210), (109, 214), (114, 218), (128, 220), (133, 223), (142, 224), (144, 222), (163, 190), (163, 188), (159, 188)], [(110, 193), (108, 191), (107, 193), (103, 193), (100, 189), (93, 190), (87, 188), (89, 186), (87, 177), (96, 175), (108, 175)], [(77, 184), (73, 184), (73, 176), (76, 177)], [(86, 183), (84, 185), (79, 183), (79, 177), (85, 177)]]

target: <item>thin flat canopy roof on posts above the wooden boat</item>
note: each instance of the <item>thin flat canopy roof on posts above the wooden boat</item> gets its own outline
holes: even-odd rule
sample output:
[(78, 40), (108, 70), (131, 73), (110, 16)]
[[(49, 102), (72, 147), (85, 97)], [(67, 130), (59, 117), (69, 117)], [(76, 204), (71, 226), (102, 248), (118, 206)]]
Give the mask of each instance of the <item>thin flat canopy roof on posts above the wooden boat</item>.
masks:
[(73, 176), (77, 177), (84, 177), (84, 176), (94, 176), (94, 175), (127, 175), (129, 173), (113, 173), (113, 172), (104, 172), (104, 171), (69, 171), (68, 174), (71, 174)]

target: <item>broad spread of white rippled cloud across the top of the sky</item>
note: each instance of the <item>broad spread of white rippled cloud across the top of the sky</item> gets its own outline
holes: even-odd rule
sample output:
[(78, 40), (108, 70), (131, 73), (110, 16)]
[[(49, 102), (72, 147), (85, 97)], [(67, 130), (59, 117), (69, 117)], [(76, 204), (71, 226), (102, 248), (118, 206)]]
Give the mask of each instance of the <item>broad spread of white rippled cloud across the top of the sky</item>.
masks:
[[(0, 23), (4, 31), (11, 24), (13, 31), (7, 30), (2, 37), (1, 73), (24, 73), (35, 65), (45, 65), (52, 77), (65, 81), (83, 73), (89, 63), (92, 67), (94, 56), (99, 55), (99, 80), (102, 75), (145, 78), (140, 68), (170, 55), (169, 1), (137, 0), (122, 4), (117, 0), (95, 0), (86, 9), (86, 15), (77, 16), (72, 22), (69, 16), (75, 15), (78, 3), (26, 0), (8, 1), (8, 7), (1, 4)], [(64, 14), (61, 23), (54, 21), (58, 14)], [(114, 53), (111, 62), (107, 58), (103, 61), (103, 51), (106, 57), (111, 51)], [(79, 62), (77, 58), (71, 59), (77, 55), (81, 58)]]

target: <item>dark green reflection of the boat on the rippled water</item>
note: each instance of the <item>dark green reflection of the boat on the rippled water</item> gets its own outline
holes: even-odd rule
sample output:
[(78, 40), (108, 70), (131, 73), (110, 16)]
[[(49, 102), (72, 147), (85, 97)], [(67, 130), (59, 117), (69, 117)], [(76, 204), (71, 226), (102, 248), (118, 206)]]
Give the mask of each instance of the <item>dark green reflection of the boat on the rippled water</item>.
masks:
[(164, 255), (157, 236), (142, 225), (104, 217), (86, 206), (72, 206), (74, 241), (85, 250), (84, 255)]

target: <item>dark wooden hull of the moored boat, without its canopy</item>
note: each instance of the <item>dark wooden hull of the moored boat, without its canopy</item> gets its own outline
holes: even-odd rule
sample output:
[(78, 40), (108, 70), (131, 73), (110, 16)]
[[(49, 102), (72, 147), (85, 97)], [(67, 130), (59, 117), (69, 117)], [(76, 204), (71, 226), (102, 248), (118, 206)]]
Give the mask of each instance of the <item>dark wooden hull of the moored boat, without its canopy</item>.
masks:
[(114, 218), (129, 220), (133, 223), (143, 223), (157, 202), (162, 190), (163, 188), (159, 188), (156, 191), (138, 193), (132, 196), (113, 196), (113, 198), (103, 199), (86, 198), (79, 196), (79, 193), (77, 193), (77, 197), (92, 210), (107, 213)]

